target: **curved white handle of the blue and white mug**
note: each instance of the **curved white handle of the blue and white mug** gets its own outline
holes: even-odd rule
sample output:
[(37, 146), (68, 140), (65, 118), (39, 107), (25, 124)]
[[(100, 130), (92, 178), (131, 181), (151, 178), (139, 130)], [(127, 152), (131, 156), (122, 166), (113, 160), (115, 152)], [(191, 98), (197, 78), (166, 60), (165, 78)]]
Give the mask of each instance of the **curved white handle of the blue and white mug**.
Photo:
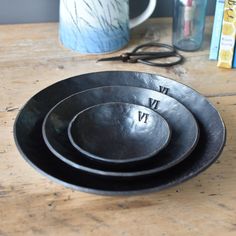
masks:
[(130, 20), (130, 26), (129, 26), (130, 29), (140, 25), (145, 20), (147, 20), (154, 12), (156, 5), (157, 5), (157, 0), (149, 0), (147, 9), (141, 15)]

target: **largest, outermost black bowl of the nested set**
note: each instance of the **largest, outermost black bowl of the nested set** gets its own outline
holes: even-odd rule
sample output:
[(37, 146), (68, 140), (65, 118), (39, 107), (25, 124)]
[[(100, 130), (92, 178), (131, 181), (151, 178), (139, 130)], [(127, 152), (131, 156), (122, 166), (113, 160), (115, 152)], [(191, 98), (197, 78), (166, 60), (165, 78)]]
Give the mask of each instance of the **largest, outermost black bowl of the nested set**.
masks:
[[(192, 154), (169, 170), (130, 179), (89, 174), (63, 163), (49, 151), (42, 137), (42, 122), (62, 99), (85, 89), (129, 85), (161, 91), (183, 103), (197, 118), (201, 138)], [(202, 95), (173, 80), (146, 73), (111, 71), (85, 74), (58, 82), (31, 98), (14, 126), (17, 147), (39, 172), (67, 187), (104, 195), (127, 195), (158, 191), (186, 181), (209, 167), (225, 144), (225, 126), (217, 110)]]

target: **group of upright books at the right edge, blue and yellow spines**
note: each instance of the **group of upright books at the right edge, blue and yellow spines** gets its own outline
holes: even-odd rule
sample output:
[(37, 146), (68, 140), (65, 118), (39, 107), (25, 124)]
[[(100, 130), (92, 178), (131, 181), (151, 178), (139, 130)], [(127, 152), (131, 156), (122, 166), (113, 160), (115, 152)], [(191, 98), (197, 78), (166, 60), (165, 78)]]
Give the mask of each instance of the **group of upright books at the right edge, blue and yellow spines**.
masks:
[(210, 59), (217, 66), (236, 68), (236, 0), (217, 0)]

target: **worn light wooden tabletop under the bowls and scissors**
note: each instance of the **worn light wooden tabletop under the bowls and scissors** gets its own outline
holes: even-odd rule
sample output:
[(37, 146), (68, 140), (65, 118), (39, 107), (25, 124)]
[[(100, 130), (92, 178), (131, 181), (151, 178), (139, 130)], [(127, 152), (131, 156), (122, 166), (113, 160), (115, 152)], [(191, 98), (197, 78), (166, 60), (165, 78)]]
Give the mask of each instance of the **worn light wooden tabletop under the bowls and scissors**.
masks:
[[(0, 26), (0, 235), (236, 235), (236, 71), (208, 60), (211, 27), (208, 19), (201, 51), (184, 53), (183, 65), (163, 69), (95, 63), (101, 56), (64, 49), (55, 23)], [(136, 28), (124, 50), (158, 39), (171, 42), (170, 19), (152, 19)], [(161, 74), (207, 96), (228, 127), (220, 159), (184, 184), (133, 197), (76, 192), (37, 173), (13, 141), (19, 109), (57, 81), (104, 70)]]

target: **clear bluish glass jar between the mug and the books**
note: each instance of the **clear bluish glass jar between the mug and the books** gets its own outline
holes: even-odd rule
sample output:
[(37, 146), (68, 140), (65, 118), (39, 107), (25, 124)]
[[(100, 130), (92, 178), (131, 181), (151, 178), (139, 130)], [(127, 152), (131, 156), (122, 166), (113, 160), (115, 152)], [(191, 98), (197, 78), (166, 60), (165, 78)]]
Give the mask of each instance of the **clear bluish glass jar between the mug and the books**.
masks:
[(173, 45), (196, 51), (203, 42), (207, 0), (174, 0)]

